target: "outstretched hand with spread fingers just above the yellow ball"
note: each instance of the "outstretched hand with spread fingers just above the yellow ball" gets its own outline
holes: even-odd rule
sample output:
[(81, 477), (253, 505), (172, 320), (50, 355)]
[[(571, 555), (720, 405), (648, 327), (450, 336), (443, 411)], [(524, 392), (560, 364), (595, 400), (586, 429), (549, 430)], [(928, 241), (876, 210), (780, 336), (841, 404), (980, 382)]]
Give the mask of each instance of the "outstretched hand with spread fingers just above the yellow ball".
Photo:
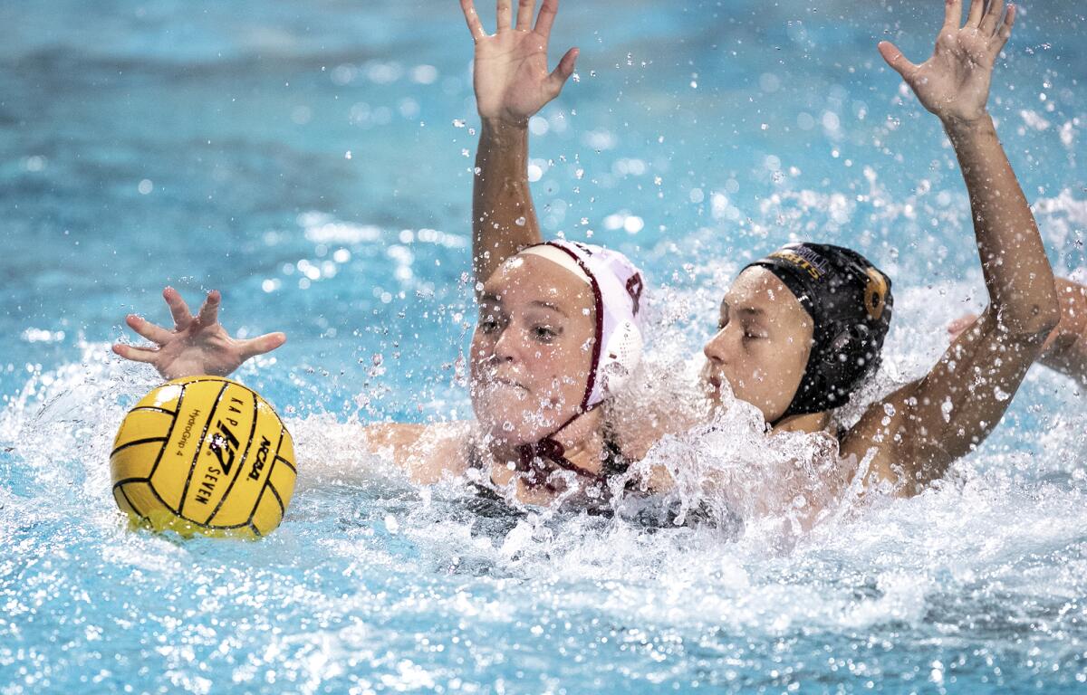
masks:
[(200, 375), (225, 377), (250, 357), (272, 352), (287, 341), (283, 333), (266, 333), (249, 340), (230, 338), (218, 323), (222, 296), (217, 290), (208, 293), (196, 317), (174, 288), (167, 287), (162, 296), (174, 316), (174, 330), (129, 314), (125, 317), (128, 327), (158, 348), (116, 343), (113, 352), (125, 359), (152, 365), (164, 379)]

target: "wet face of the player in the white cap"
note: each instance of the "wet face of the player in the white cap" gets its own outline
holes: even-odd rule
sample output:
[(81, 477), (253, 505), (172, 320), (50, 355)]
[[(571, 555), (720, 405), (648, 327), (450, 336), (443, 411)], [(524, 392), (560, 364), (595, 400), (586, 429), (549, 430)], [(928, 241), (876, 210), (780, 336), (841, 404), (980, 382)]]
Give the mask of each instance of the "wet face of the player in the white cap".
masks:
[(530, 254), (484, 285), (472, 337), (472, 407), (485, 432), (537, 442), (577, 413), (596, 336), (592, 290)]

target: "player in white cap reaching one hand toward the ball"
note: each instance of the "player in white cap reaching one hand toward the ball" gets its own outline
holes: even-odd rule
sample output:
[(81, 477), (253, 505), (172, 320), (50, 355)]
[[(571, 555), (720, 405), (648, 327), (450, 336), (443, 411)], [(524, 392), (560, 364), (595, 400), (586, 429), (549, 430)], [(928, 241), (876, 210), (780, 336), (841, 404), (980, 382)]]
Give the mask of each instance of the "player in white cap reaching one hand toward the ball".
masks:
[[(490, 494), (603, 508), (607, 478), (626, 462), (605, 435), (598, 406), (623, 388), (640, 358), (641, 287), (625, 256), (600, 247), (558, 241), (522, 250), (480, 292), (471, 349), (475, 426), (374, 426), (365, 431), (371, 448), (389, 453), (416, 482), (471, 470)], [(158, 346), (113, 350), (165, 378), (226, 376), (286, 339), (233, 340), (217, 320), (217, 292), (197, 318), (173, 289), (164, 298), (174, 330), (128, 316), (128, 326)]]

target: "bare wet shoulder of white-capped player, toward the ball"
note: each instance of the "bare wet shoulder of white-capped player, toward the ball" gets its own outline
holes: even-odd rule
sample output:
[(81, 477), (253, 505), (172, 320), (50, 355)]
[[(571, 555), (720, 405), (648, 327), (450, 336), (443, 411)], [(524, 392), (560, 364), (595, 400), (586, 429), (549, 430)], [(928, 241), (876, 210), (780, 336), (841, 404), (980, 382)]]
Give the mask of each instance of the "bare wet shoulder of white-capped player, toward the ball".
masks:
[(432, 484), (468, 467), (472, 424), (379, 424), (363, 429), (371, 451), (387, 455), (412, 482)]

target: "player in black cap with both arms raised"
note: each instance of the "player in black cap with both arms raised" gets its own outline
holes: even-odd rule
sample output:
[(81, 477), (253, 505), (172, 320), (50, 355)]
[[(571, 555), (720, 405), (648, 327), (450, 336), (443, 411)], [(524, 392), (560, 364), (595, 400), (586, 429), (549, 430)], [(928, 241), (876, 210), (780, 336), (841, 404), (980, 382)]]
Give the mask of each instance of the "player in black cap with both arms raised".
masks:
[[(499, 0), (493, 36), (483, 30), (472, 0), (461, 4), (476, 43), (483, 121), (473, 208), (482, 276), (539, 239), (525, 179), (526, 125), (558, 96), (576, 51), (547, 72), (557, 0), (544, 2), (535, 28), (532, 1), (521, 3), (513, 25), (509, 0)], [(826, 244), (791, 244), (744, 269), (704, 349), (704, 379), (714, 397), (727, 382), (774, 432), (827, 431), (845, 460), (869, 458), (867, 482), (889, 481), (902, 494), (941, 476), (986, 438), (1059, 317), (1037, 226), (986, 111), (992, 67), (1014, 20), (1003, 0), (973, 0), (963, 25), (962, 1), (948, 0), (925, 63), (910, 63), (886, 41), (878, 47), (951, 140), (989, 294), (988, 308), (933, 370), (869, 407), (853, 427), (833, 425), (834, 409), (879, 362), (892, 301), (883, 273), (860, 254)]]

